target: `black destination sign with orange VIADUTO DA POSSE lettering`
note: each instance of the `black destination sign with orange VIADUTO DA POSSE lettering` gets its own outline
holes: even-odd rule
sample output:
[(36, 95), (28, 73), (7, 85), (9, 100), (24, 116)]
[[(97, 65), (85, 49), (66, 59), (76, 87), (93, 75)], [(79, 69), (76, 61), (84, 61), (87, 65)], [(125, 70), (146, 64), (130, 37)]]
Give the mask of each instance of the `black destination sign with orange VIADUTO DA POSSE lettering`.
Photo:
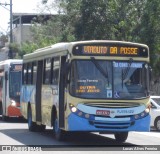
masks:
[(137, 46), (104, 46), (104, 45), (78, 45), (73, 48), (74, 55), (88, 56), (134, 56), (148, 57), (146, 47)]

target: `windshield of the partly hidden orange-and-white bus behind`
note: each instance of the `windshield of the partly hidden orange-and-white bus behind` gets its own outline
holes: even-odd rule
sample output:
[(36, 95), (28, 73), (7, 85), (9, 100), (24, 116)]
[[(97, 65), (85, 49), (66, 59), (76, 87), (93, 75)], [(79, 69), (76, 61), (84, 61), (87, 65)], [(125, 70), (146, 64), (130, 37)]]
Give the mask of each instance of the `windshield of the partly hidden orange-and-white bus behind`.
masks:
[(21, 64), (11, 65), (9, 75), (9, 95), (16, 101), (20, 101), (21, 71)]

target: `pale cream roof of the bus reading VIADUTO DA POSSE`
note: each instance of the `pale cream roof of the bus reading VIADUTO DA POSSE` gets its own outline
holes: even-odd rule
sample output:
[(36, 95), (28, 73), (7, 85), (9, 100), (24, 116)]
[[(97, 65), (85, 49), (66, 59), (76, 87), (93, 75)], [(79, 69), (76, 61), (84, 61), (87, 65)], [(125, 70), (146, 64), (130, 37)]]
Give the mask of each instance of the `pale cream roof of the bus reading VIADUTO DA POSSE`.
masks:
[(67, 55), (69, 52), (72, 51), (73, 46), (78, 44), (92, 44), (92, 43), (112, 43), (112, 44), (121, 44), (121, 45), (136, 45), (147, 47), (145, 44), (140, 43), (133, 43), (133, 42), (126, 42), (126, 41), (115, 41), (115, 40), (88, 40), (88, 41), (77, 41), (77, 42), (63, 42), (63, 43), (56, 43), (51, 46), (47, 46), (45, 48), (40, 48), (35, 50), (33, 53), (26, 54), (23, 56), (24, 62), (34, 61), (34, 60), (41, 60), (44, 58), (54, 56), (62, 56)]

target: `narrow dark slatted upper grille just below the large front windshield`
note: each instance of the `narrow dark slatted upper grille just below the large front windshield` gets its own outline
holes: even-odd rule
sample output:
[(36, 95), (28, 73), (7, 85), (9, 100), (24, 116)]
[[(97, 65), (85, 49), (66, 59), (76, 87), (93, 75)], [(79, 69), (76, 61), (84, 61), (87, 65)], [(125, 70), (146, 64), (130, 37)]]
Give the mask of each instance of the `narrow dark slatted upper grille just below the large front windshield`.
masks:
[(84, 103), (84, 105), (90, 107), (100, 107), (100, 108), (131, 108), (140, 106), (139, 103)]

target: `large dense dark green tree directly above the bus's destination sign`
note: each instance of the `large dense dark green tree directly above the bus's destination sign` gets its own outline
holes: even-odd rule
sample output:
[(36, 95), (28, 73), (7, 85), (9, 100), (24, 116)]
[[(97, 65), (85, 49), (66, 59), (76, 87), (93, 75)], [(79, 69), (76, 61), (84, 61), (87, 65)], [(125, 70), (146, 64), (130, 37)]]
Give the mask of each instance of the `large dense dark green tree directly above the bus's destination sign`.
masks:
[(145, 1), (79, 1), (81, 3), (79, 4), (79, 17), (74, 21), (77, 40), (115, 39), (137, 41), (139, 39), (137, 29), (143, 15)]

